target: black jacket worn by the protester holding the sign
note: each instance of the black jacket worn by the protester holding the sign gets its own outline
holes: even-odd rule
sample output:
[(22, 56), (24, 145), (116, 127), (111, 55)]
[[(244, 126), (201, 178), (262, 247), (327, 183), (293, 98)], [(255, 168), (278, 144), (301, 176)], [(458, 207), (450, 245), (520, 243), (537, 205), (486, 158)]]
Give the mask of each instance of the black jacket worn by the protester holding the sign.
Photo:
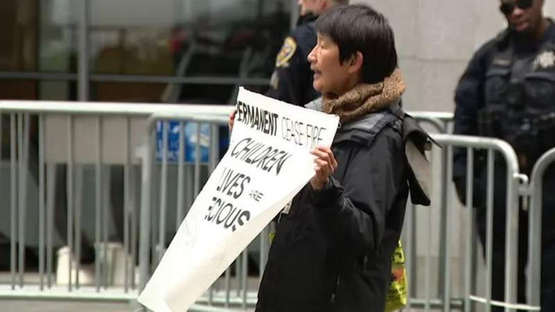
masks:
[[(384, 311), (415, 181), (404, 141), (410, 131), (427, 139), (402, 117), (369, 114), (338, 130), (332, 150), (339, 167), (330, 182), (322, 191), (307, 184), (280, 216), (256, 311)], [(422, 189), (411, 189), (413, 201), (429, 203)]]

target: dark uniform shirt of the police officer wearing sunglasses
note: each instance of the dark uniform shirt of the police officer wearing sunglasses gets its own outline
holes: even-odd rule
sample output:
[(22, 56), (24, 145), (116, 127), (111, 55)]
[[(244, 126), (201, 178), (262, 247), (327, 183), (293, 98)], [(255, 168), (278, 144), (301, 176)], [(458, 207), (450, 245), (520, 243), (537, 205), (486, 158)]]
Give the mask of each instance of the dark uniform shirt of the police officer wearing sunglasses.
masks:
[[(555, 112), (554, 22), (549, 19), (539, 42), (523, 42), (512, 31), (504, 31), (481, 46), (459, 81), (455, 103), (455, 134), (499, 137), (511, 144), (511, 136), (526, 130), (529, 116)], [(489, 129), (498, 133), (481, 130), (484, 107), (506, 116), (498, 129)], [(518, 152), (518, 146), (513, 147)], [(466, 174), (465, 159), (466, 151), (455, 152), (455, 176)], [(534, 159), (519, 160), (529, 169)]]

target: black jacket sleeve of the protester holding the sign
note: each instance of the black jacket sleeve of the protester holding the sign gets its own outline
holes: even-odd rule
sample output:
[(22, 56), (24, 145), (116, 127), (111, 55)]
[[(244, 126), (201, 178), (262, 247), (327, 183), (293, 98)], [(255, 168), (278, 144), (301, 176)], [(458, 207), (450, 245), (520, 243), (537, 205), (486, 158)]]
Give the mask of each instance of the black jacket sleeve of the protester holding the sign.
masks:
[(406, 182), (402, 139), (383, 130), (370, 146), (352, 150), (343, 185), (330, 178), (322, 191), (311, 191), (318, 220), (332, 244), (343, 252), (375, 252), (384, 238), (386, 215)]

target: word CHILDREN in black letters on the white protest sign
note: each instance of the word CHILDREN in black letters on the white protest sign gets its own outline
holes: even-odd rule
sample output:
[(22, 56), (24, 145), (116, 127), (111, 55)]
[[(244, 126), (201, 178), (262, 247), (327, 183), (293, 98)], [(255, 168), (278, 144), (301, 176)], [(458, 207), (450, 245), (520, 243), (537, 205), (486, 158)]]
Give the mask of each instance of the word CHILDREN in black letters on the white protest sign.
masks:
[(283, 165), (291, 157), (291, 153), (272, 146), (266, 146), (266, 144), (251, 138), (245, 138), (234, 146), (231, 151), (231, 157), (251, 164), (268, 173), (275, 171), (275, 175), (279, 175)]

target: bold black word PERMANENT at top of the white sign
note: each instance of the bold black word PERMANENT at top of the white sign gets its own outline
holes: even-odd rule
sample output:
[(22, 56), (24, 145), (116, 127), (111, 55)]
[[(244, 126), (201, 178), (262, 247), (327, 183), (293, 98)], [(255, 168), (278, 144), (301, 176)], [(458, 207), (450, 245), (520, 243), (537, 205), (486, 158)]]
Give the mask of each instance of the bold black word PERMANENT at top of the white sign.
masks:
[(278, 114), (253, 107), (239, 101), (237, 103), (237, 121), (250, 128), (275, 136), (278, 132)]

